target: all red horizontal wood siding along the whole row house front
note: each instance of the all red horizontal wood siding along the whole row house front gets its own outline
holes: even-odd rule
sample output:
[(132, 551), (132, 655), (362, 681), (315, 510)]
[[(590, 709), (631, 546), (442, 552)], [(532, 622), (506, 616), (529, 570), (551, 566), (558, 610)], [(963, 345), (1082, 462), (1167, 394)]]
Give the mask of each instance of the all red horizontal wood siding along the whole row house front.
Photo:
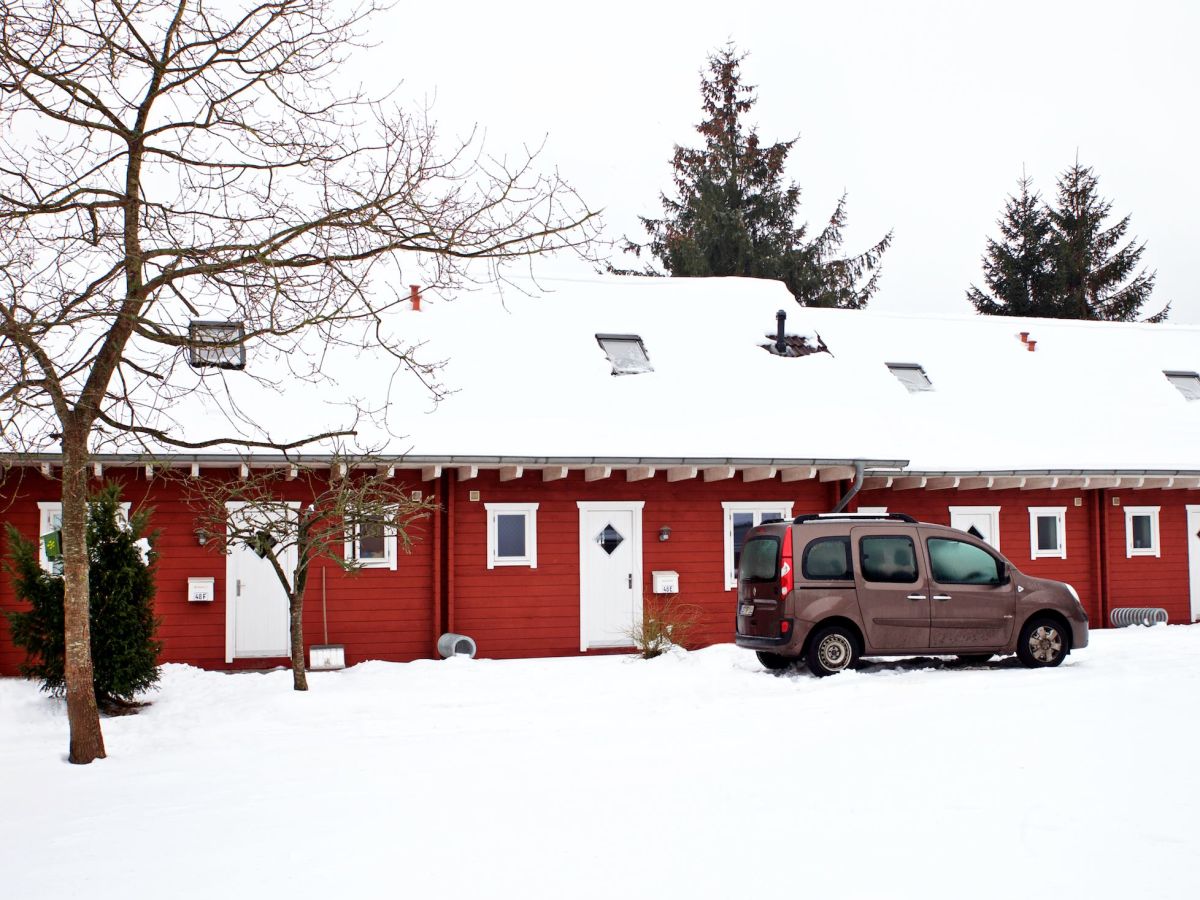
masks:
[[(205, 472), (208, 476), (209, 473)], [(109, 469), (106, 476), (120, 480), (125, 499), (134, 506), (155, 508), (152, 527), (160, 532), (156, 611), (161, 619), (162, 660), (191, 662), (209, 668), (246, 668), (283, 665), (286, 660), (224, 661), (226, 642), (226, 558), (196, 540), (196, 512), (186, 503), (178, 481), (146, 480), (142, 469)], [(222, 475), (218, 475), (222, 476)], [(420, 482), (413, 473), (409, 486), (427, 494), (433, 484)], [(678, 602), (695, 607), (698, 623), (692, 634), (697, 646), (733, 638), (734, 593), (725, 589), (724, 502), (791, 502), (796, 514), (823, 512), (835, 503), (846, 482), (818, 480), (782, 482), (779, 478), (744, 482), (732, 479), (706, 482), (702, 478), (668, 482), (662, 474), (628, 481), (623, 472), (611, 478), (586, 481), (572, 470), (564, 479), (544, 481), (530, 472), (520, 479), (500, 481), (499, 474), (485, 470), (478, 478), (444, 482), (452, 492), (454, 522), (443, 534), (452, 534), (449, 576), (444, 578), (450, 596), (440, 598), (436, 577), (433, 522), (414, 530), (410, 553), (401, 552), (395, 571), (365, 569), (344, 574), (326, 562), (316, 564), (305, 604), (305, 642), (324, 643), (322, 619), (322, 572), (329, 641), (346, 647), (347, 662), (366, 659), (407, 661), (434, 655), (434, 631), (439, 600), (449, 619), (443, 630), (472, 636), (481, 656), (551, 656), (580, 653), (580, 500), (641, 500), (642, 580), (646, 596), (652, 596), (654, 570), (679, 574)], [(284, 487), (290, 499), (304, 499), (300, 484)], [(470, 493), (479, 492), (472, 500)], [(1097, 506), (1096, 497), (1102, 503)], [(1112, 505), (1112, 497), (1121, 506)], [(1075, 498), (1080, 505), (1075, 505)], [(0, 482), (0, 520), (11, 522), (22, 534), (34, 538), (38, 526), (38, 500), (58, 500), (59, 484), (36, 469), (12, 469)], [(538, 503), (538, 568), (487, 568), (486, 503)], [(1188, 535), (1186, 505), (1200, 504), (1200, 491), (864, 491), (856, 502), (863, 506), (887, 506), (919, 520), (949, 524), (950, 506), (1000, 506), (1001, 551), (1030, 575), (1067, 581), (1075, 586), (1093, 626), (1102, 622), (1099, 547), (1094, 534), (1097, 508), (1102, 510), (1106, 569), (1108, 606), (1162, 606), (1172, 622), (1187, 622), (1190, 614), (1188, 584)], [(1124, 506), (1158, 505), (1162, 556), (1126, 557)], [(1066, 508), (1066, 559), (1032, 559), (1030, 548), (1031, 506)], [(450, 527), (452, 526), (452, 527)], [(659, 528), (670, 526), (671, 538), (658, 539)], [(212, 577), (216, 600), (187, 601), (188, 577)], [(0, 578), (0, 611), (19, 602), (11, 581)], [(0, 622), (0, 674), (12, 674), (22, 654), (8, 640), (7, 624)]]

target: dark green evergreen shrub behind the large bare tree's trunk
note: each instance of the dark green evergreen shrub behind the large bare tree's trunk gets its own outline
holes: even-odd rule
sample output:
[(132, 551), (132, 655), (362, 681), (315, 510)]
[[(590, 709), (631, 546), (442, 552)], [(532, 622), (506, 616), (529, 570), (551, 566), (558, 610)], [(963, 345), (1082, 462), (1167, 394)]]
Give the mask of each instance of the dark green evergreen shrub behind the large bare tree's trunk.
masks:
[[(125, 712), (134, 697), (158, 682), (158, 652), (154, 617), (155, 556), (146, 535), (151, 510), (139, 509), (128, 522), (121, 515), (120, 487), (108, 486), (88, 504), (88, 583), (91, 624), (92, 686), (97, 706)], [(22, 674), (36, 678), (54, 696), (66, 692), (66, 638), (62, 614), (62, 576), (47, 572), (38, 545), (7, 527), (10, 560), (6, 566), (17, 596), (30, 605), (5, 613), (13, 644), (25, 650)]]

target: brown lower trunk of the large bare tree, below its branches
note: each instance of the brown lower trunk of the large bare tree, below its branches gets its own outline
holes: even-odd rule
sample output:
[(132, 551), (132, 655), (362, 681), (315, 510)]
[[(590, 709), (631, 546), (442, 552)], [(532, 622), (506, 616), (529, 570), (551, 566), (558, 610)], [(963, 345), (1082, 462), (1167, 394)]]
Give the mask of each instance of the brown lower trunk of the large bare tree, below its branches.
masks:
[(91, 665), (91, 614), (88, 589), (88, 449), (86, 436), (62, 438), (62, 618), (68, 760), (86, 764), (104, 758)]

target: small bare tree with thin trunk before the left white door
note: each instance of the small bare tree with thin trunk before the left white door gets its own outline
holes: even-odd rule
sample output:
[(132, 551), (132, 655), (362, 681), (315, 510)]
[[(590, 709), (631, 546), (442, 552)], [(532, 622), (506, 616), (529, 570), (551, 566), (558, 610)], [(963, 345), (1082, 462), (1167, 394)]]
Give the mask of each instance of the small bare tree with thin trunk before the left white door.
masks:
[[(304, 601), (312, 564), (328, 559), (355, 571), (359, 565), (342, 548), (362, 535), (395, 535), (408, 552), (413, 524), (437, 509), (430, 500), (414, 500), (386, 469), (371, 467), (368, 473), (335, 461), (328, 470), (294, 466), (238, 480), (187, 481), (196, 524), (214, 538), (206, 546), (217, 552), (250, 547), (275, 571), (288, 599), (292, 683), (298, 691), (308, 690)], [(242, 504), (234, 515), (228, 512), (230, 503)]]

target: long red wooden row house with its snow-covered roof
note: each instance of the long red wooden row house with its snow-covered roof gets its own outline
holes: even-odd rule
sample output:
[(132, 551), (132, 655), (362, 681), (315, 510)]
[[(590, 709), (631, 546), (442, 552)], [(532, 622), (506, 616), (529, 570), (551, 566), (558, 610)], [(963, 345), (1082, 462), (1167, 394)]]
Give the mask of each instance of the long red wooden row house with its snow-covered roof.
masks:
[[(228, 390), (247, 427), (294, 436), (354, 396), (379, 412), (356, 449), (97, 446), (97, 478), (156, 509), (164, 661), (277, 665), (288, 634), (259, 560), (202, 546), (163, 469), (302, 462), (338, 478), (347, 451), (440, 506), (410, 553), (350, 534), (361, 570), (310, 581), (306, 642), (325, 642), (324, 600), (349, 664), (433, 656), (446, 631), (493, 658), (628, 646), (655, 572), (702, 611), (700, 641), (732, 640), (740, 535), (832, 509), (858, 470), (851, 509), (973, 527), (1024, 571), (1072, 582), (1093, 624), (1117, 606), (1200, 618), (1198, 328), (808, 310), (770, 282), (637, 278), (503, 304), (426, 298), (390, 325), (446, 359), (455, 392), (432, 412), (370, 347), (330, 355), (320, 390), (270, 390), (256, 376), (278, 382), (281, 361), (247, 347), (246, 372), (197, 374), (169, 410), (202, 434)], [(53, 527), (55, 462), (14, 454), (4, 470), (2, 518), (30, 536)], [(0, 608), (16, 605), (0, 584)], [(18, 662), (0, 630), (0, 673)]]

